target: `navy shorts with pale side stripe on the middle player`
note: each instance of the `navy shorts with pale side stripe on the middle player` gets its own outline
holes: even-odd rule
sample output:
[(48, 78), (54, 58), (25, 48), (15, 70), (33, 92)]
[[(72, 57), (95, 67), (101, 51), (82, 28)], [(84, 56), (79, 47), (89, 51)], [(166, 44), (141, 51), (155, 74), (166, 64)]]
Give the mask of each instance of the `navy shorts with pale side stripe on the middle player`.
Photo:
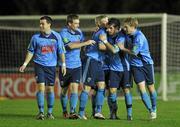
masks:
[(83, 68), (83, 83), (94, 87), (97, 82), (104, 82), (104, 70), (102, 69), (102, 63), (88, 58)]

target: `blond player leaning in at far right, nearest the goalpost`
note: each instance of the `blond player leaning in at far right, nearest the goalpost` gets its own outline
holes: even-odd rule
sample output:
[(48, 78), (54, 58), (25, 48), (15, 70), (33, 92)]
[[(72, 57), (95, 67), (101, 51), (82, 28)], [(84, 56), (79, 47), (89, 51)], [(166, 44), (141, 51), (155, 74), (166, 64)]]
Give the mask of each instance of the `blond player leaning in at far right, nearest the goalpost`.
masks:
[[(125, 32), (131, 39), (131, 44), (128, 44), (129, 48), (124, 48), (123, 50), (131, 54), (130, 65), (134, 81), (138, 85), (142, 101), (150, 112), (150, 119), (156, 119), (157, 93), (154, 87), (154, 67), (149, 51), (148, 40), (145, 35), (137, 29), (137, 19), (127, 18), (124, 20), (123, 26)], [(146, 92), (146, 86), (150, 97)]]

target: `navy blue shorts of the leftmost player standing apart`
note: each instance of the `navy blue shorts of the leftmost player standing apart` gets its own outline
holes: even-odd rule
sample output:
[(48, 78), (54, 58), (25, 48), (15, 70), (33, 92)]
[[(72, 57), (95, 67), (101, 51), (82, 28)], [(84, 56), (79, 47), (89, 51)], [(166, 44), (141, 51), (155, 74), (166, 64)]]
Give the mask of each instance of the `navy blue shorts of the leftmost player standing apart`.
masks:
[(35, 76), (37, 83), (45, 83), (45, 85), (54, 86), (56, 67), (42, 66), (35, 63)]

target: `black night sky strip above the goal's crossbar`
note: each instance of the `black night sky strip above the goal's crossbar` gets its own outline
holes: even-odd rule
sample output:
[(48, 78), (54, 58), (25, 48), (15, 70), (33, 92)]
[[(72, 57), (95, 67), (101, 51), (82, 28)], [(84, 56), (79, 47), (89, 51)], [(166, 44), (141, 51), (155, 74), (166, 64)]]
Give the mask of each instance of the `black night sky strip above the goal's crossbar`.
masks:
[(0, 3), (0, 15), (162, 12), (180, 14), (180, 0), (6, 0)]

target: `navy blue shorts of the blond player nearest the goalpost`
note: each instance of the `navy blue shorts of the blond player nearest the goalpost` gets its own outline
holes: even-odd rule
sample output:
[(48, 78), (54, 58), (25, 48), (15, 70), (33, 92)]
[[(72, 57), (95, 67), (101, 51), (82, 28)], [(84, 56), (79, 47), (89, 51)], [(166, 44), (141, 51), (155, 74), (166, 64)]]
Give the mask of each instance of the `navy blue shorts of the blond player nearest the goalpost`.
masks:
[(136, 84), (145, 81), (147, 85), (155, 83), (154, 67), (152, 64), (146, 64), (142, 67), (131, 66), (132, 75)]

